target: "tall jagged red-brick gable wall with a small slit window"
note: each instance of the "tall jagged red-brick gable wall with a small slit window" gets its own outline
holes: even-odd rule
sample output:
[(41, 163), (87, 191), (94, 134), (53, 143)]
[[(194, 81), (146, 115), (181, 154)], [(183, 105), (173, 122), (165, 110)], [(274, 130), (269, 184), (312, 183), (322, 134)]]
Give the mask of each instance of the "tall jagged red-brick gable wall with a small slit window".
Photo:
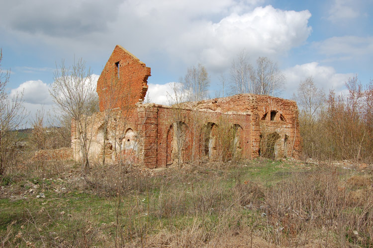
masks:
[(116, 45), (97, 81), (100, 111), (135, 107), (145, 98), (150, 76), (145, 63)]

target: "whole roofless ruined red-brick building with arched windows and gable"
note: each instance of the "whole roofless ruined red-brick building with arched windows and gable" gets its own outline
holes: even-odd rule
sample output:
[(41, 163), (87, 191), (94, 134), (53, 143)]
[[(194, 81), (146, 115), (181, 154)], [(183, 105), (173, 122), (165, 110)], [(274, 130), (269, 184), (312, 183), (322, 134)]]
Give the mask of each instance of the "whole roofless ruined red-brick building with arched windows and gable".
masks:
[[(93, 158), (105, 156), (112, 162), (124, 158), (157, 168), (215, 160), (224, 152), (228, 157), (251, 159), (266, 149), (274, 158), (298, 157), (294, 101), (238, 94), (172, 106), (144, 103), (150, 76), (145, 63), (123, 47), (115, 47), (97, 82), (100, 112), (92, 120)], [(109, 118), (106, 124), (105, 118)], [(224, 132), (233, 137), (223, 137)], [(77, 142), (73, 125), (75, 159), (80, 156)]]

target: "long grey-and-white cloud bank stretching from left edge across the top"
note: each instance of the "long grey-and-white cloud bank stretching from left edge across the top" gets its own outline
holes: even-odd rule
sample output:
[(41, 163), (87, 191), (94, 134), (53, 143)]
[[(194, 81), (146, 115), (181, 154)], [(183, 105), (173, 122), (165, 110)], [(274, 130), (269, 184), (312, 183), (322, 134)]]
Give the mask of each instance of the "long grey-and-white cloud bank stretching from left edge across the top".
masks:
[(162, 54), (158, 60), (163, 63), (181, 61), (190, 66), (200, 62), (218, 71), (241, 49), (254, 58), (276, 56), (301, 45), (310, 35), (308, 10), (258, 6), (263, 3), (6, 1), (0, 10), (0, 27), (17, 40), (60, 47), (60, 52), (79, 52), (85, 58), (99, 53), (107, 56), (107, 47), (122, 44), (144, 61), (154, 60), (156, 53)]

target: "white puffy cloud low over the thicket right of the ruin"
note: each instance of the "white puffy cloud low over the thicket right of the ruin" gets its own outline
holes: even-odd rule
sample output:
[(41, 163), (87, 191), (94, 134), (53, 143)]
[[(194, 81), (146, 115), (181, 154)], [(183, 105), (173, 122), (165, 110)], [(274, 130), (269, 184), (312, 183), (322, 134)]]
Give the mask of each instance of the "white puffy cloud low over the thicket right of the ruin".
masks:
[(312, 77), (318, 88), (323, 88), (327, 93), (329, 89), (334, 89), (336, 92), (344, 90), (345, 82), (349, 78), (355, 76), (353, 73), (340, 74), (333, 67), (320, 66), (317, 62), (296, 65), (284, 71), (286, 77), (286, 92), (290, 97), (298, 88), (301, 81), (307, 77)]

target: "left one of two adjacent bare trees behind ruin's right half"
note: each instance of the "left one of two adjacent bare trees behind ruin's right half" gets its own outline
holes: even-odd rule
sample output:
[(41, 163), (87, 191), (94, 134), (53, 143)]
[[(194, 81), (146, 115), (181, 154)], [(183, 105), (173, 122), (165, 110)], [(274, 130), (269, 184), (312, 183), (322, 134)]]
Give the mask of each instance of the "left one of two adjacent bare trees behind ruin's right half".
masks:
[(237, 58), (232, 61), (230, 68), (231, 90), (233, 94), (253, 93), (250, 72), (253, 67), (244, 50), (241, 50)]

